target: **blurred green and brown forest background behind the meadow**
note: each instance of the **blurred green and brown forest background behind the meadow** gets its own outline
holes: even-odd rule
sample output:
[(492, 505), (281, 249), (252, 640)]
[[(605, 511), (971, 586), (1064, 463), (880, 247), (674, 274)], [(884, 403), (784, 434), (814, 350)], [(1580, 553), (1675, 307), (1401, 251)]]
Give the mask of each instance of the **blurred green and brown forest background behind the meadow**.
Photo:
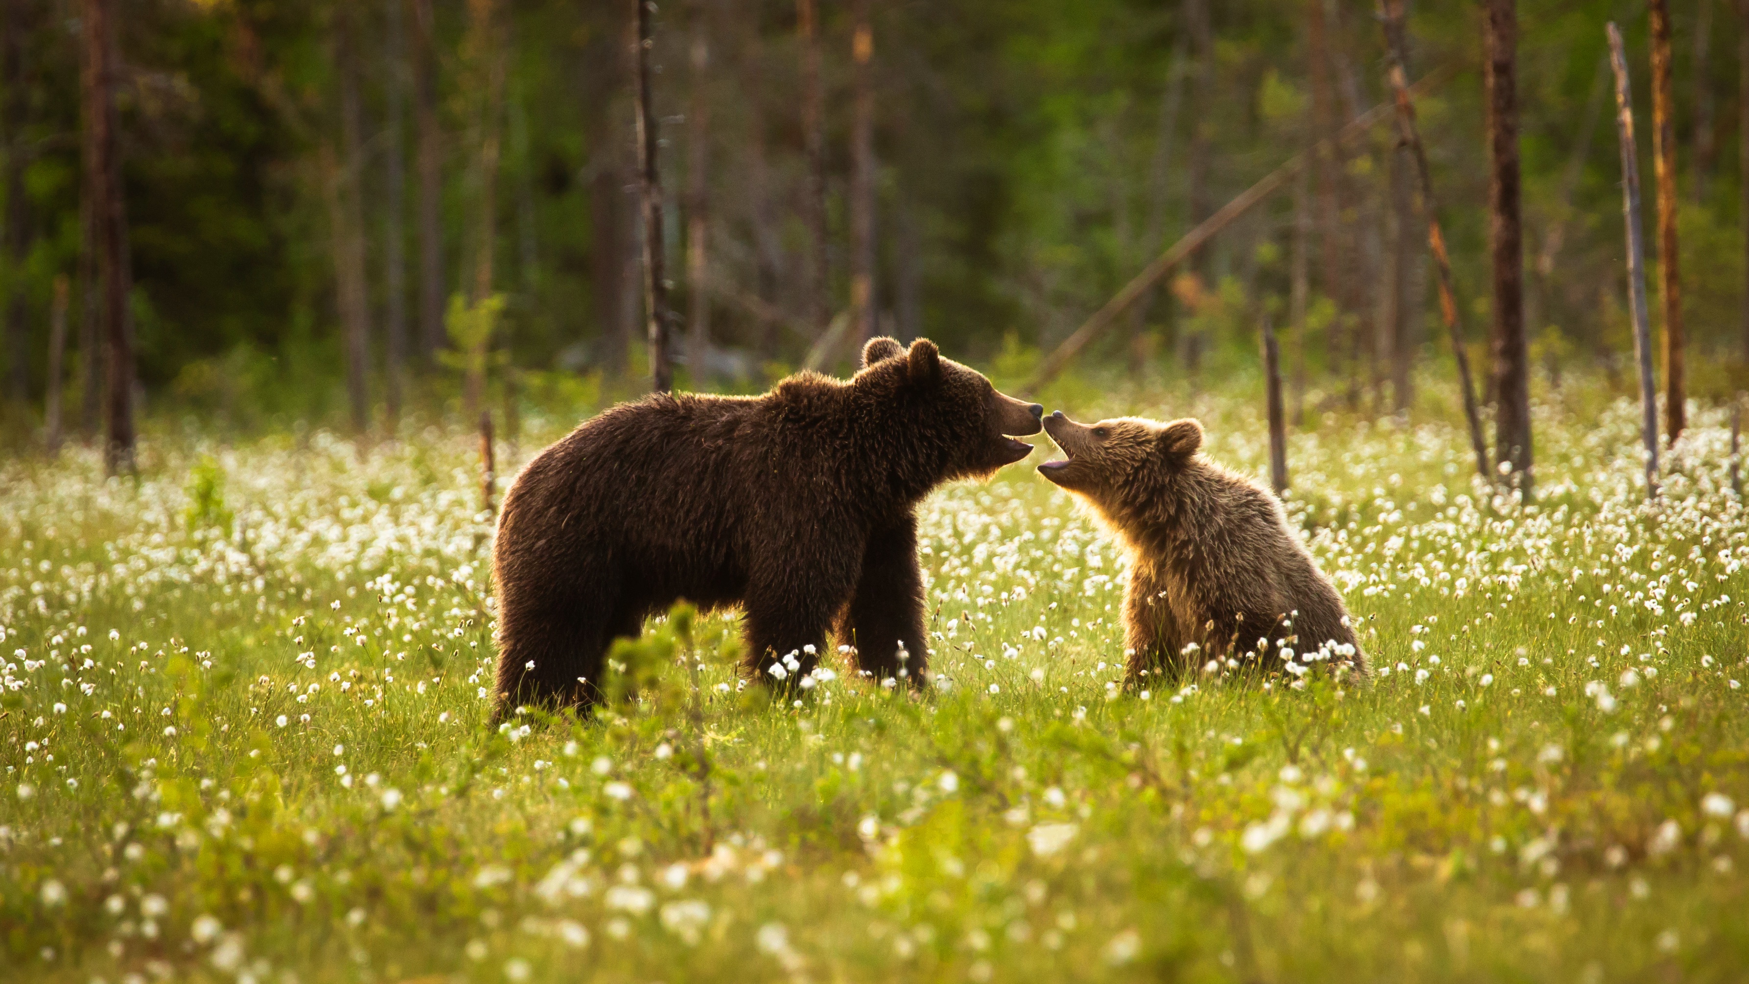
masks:
[[(1473, 360), (1522, 344), (1537, 379), (1600, 365), (1628, 386), (1604, 23), (1625, 28), (1635, 103), (1651, 107), (1646, 10), (1516, 3), (1522, 246), (1502, 246), (1483, 84), (1494, 5), (1408, 5), (1410, 79), (1450, 73), (1417, 110)], [(117, 208), (89, 187), (93, 7), (115, 28)], [(1749, 66), (1732, 58), (1749, 51), (1749, 7), (1669, 7), (1655, 133), (1674, 159), (1688, 390), (1725, 393), (1749, 350)], [(381, 430), (647, 388), (633, 10), (0, 0), (7, 440), (44, 426), (59, 276), (70, 433), (114, 412), (96, 392), (110, 280), (136, 353), (131, 404), (149, 411)], [(675, 0), (652, 33), (680, 388), (750, 390), (810, 357), (841, 369), (871, 332), (1023, 374), (1200, 218), (1390, 98), (1373, 0)], [(1291, 412), (1452, 405), (1415, 392), (1417, 367), (1450, 358), (1424, 232), (1387, 117), (1313, 154), (1081, 365), (1214, 385), (1254, 371), (1270, 311)], [(1506, 318), (1502, 343), (1490, 287), (1513, 250), (1523, 318)], [(1655, 330), (1676, 301), (1653, 304)], [(1494, 404), (1499, 372), (1483, 376)]]

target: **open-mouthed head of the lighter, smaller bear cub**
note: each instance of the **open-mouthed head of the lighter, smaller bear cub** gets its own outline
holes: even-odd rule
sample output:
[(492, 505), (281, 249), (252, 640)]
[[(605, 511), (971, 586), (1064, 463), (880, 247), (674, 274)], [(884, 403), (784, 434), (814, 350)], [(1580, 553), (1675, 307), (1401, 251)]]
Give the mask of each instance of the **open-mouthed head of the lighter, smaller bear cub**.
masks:
[(1044, 418), (1044, 432), (1063, 449), (1063, 456), (1039, 465), (1039, 474), (1104, 507), (1123, 505), (1128, 495), (1158, 488), (1146, 479), (1182, 470), (1202, 449), (1202, 423), (1188, 418), (1172, 423), (1146, 418), (1076, 423), (1056, 411)]

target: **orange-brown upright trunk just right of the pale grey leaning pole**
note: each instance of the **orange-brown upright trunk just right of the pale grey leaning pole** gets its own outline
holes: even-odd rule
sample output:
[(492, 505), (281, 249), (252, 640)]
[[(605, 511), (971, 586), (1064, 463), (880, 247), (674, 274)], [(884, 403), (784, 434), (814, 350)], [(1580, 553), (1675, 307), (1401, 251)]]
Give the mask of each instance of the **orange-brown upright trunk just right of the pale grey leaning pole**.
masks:
[(1658, 274), (1663, 283), (1663, 430), (1670, 444), (1688, 426), (1688, 371), (1683, 360), (1683, 273), (1676, 243), (1676, 93), (1670, 70), (1669, 0), (1651, 0), (1651, 159), (1658, 178)]

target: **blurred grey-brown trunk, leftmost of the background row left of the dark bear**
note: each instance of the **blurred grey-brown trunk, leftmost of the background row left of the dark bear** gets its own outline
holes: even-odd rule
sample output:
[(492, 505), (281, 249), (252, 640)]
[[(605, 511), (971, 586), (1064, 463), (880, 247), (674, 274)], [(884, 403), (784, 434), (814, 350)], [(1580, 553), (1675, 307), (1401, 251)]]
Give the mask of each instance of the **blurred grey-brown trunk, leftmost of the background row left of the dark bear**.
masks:
[[(329, 220), (334, 224), (334, 287), (339, 295), (339, 320), (345, 330), (346, 397), (352, 402), (352, 428), (371, 428), (371, 302), (364, 280), (364, 121), (359, 107), (359, 38), (350, 5), (336, 7), (334, 63), (339, 70), (339, 161), (329, 161), (332, 182)], [(329, 152), (332, 154), (332, 152)]]

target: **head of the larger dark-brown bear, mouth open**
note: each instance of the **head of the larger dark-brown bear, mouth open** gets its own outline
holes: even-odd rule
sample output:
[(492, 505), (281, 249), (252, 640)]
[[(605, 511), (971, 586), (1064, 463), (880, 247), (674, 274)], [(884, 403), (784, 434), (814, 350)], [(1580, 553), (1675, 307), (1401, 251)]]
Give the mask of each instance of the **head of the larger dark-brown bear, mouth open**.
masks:
[(1039, 433), (1044, 407), (999, 393), (983, 372), (943, 358), (936, 343), (916, 339), (906, 350), (888, 337), (862, 346), (855, 390), (883, 426), (883, 456), (906, 472), (908, 484), (986, 477), (1013, 465), (1032, 446), (1016, 437)]

